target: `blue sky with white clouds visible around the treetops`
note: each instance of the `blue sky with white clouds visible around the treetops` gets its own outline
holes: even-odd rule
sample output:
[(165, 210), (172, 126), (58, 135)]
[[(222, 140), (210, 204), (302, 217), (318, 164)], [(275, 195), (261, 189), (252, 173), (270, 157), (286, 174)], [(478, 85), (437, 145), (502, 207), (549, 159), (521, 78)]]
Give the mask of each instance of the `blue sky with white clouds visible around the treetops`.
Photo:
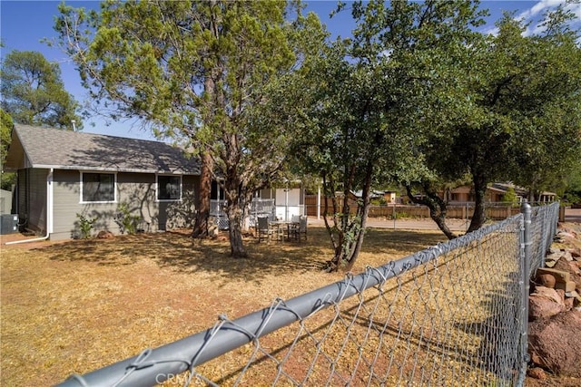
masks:
[[(481, 31), (494, 33), (494, 23), (502, 15), (503, 11), (516, 11), (517, 17), (526, 20), (536, 20), (547, 8), (555, 7), (564, 0), (542, 1), (483, 1), (481, 6), (487, 8), (490, 16), (487, 25), (481, 27)], [(61, 66), (64, 87), (67, 92), (74, 95), (78, 102), (83, 102), (86, 91), (80, 84), (79, 76), (74, 70), (74, 64), (58, 48), (48, 47), (41, 43), (43, 38), (54, 37), (54, 15), (57, 14), (58, 1), (6, 1), (0, 2), (0, 38), (4, 47), (0, 48), (2, 57), (12, 50), (38, 51), (44, 54), (47, 60), (58, 62)], [(97, 1), (66, 1), (74, 7), (98, 8)], [(353, 22), (349, 12), (341, 12), (329, 17), (337, 1), (306, 1), (307, 11), (313, 11), (319, 15), (322, 23), (334, 36), (340, 34), (343, 37), (350, 35)], [(581, 27), (581, 4), (571, 5), (577, 16), (576, 25)], [(531, 27), (528, 33), (533, 33)], [(91, 122), (94, 125), (91, 125)], [(107, 126), (104, 121), (94, 119), (84, 121), (84, 131), (110, 134), (114, 136), (131, 137), (137, 139), (152, 140), (153, 136), (142, 131), (137, 125), (130, 122), (115, 123)]]

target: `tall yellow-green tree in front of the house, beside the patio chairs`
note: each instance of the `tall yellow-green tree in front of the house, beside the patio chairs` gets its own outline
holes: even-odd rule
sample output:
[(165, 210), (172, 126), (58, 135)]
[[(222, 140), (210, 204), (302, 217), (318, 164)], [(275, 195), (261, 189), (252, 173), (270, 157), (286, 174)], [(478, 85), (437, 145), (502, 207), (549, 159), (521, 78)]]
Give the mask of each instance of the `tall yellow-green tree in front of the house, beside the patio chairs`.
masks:
[(303, 22), (319, 28), (297, 5), (107, 1), (90, 13), (61, 5), (55, 25), (97, 101), (202, 156), (199, 198), (208, 198), (211, 176), (222, 184), (231, 256), (246, 256), (242, 208), (281, 169), (286, 144), (283, 131), (251, 111), (267, 97), (265, 86), (296, 65)]

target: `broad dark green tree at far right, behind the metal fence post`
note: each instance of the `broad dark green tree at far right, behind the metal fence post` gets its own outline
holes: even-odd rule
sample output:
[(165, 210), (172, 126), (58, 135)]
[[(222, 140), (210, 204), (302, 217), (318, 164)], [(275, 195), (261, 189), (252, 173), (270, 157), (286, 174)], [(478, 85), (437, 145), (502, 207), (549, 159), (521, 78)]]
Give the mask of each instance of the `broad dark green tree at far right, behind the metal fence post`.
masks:
[(466, 47), (453, 103), (434, 105), (438, 109), (428, 114), (435, 129), (424, 148), (428, 167), (448, 180), (471, 177), (475, 210), (468, 231), (486, 220), (489, 183), (547, 189), (551, 177), (578, 157), (580, 50), (562, 16), (549, 13), (545, 24), (551, 28), (526, 36), (526, 25), (505, 15), (497, 35)]

